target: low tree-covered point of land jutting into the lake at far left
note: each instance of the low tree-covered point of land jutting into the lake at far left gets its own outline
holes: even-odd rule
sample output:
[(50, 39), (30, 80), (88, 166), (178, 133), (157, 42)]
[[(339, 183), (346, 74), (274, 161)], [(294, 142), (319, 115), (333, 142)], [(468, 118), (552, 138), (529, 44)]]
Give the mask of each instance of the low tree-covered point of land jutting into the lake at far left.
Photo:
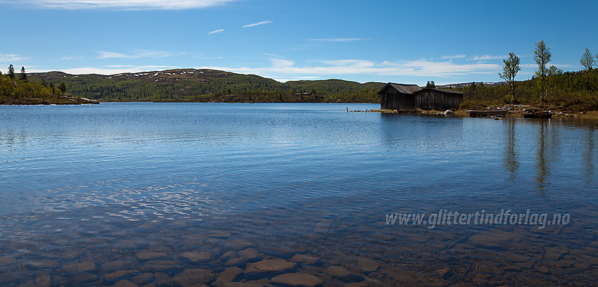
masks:
[(0, 72), (0, 105), (82, 105), (99, 103), (89, 98), (69, 96), (64, 82), (55, 87), (53, 83), (30, 82), (21, 68), (18, 78), (13, 65), (8, 66), (7, 75)]

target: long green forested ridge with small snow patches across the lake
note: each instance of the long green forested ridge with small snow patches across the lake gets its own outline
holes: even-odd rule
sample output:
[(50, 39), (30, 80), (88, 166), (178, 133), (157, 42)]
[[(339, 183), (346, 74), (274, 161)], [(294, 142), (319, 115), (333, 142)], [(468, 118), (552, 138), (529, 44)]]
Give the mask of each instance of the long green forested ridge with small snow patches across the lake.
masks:
[(386, 84), (341, 79), (281, 83), (257, 75), (209, 69), (115, 75), (42, 72), (29, 77), (53, 84), (65, 82), (69, 94), (98, 101), (377, 103), (377, 92)]

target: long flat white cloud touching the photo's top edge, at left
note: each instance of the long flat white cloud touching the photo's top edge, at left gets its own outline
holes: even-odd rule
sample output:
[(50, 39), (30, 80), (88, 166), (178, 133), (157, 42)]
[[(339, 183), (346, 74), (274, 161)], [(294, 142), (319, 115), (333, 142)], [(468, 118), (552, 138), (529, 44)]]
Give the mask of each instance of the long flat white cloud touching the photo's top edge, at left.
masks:
[(238, 0), (23, 0), (16, 5), (54, 9), (182, 10), (208, 8)]

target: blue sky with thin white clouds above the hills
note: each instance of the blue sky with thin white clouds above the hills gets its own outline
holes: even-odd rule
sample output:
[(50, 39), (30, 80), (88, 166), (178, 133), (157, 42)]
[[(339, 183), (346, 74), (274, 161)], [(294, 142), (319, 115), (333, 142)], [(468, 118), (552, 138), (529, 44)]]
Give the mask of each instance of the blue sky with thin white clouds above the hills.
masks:
[[(72, 74), (212, 68), (281, 82), (497, 82), (598, 53), (598, 1), (0, 0), (0, 65)], [(2, 72), (6, 71), (2, 69)]]

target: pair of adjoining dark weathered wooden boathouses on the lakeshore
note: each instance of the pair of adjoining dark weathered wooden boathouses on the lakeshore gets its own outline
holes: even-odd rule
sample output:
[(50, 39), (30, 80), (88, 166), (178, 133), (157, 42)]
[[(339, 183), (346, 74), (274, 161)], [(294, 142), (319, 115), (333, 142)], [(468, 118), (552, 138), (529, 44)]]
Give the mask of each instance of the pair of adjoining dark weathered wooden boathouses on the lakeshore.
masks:
[(381, 109), (412, 110), (447, 110), (457, 108), (463, 101), (463, 93), (445, 89), (424, 88), (416, 84), (388, 83), (380, 91)]

